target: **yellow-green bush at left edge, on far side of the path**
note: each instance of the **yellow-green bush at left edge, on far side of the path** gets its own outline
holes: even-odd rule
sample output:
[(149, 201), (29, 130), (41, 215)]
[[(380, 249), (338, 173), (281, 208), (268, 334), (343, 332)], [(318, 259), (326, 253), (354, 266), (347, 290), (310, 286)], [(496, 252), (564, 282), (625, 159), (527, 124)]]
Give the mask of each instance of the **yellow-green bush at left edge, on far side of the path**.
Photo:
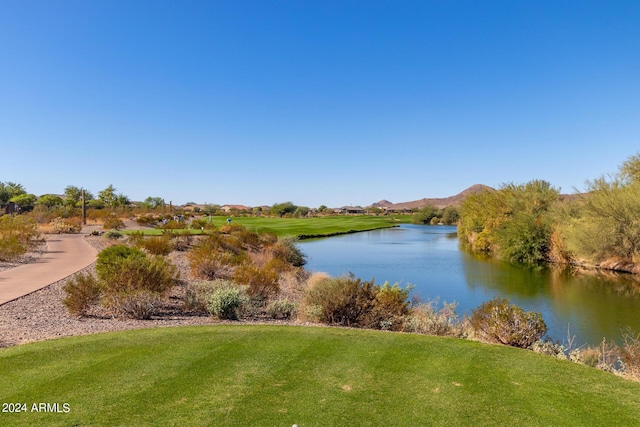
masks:
[(23, 216), (0, 216), (0, 260), (12, 260), (40, 241), (38, 225)]

